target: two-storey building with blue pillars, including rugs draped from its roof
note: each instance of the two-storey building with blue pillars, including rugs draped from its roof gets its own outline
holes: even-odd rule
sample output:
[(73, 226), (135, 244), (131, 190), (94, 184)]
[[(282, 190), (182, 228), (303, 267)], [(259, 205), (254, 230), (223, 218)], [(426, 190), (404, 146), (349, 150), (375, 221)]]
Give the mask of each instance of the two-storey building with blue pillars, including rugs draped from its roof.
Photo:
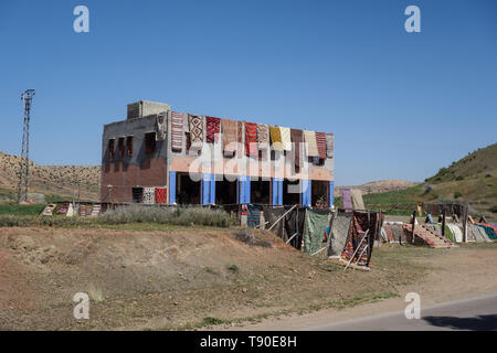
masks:
[(104, 126), (104, 203), (334, 204), (334, 135), (128, 105)]

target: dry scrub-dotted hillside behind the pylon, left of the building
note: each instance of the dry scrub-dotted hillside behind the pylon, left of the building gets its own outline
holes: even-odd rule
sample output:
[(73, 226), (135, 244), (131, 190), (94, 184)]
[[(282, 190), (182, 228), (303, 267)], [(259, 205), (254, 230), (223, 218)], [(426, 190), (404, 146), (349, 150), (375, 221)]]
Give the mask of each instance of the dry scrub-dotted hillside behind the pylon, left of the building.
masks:
[[(13, 200), (17, 193), (20, 157), (0, 152), (0, 199)], [(72, 199), (80, 186), (81, 200), (98, 201), (101, 167), (30, 165), (30, 192), (53, 199)]]

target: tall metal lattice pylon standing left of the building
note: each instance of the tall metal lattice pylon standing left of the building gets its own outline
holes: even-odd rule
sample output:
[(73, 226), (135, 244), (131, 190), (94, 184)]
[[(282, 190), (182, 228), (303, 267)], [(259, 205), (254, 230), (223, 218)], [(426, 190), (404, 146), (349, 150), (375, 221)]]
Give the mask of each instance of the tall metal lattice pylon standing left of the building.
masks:
[(27, 89), (21, 95), (24, 101), (24, 125), (22, 128), (22, 151), (19, 165), (18, 202), (28, 202), (28, 183), (30, 176), (30, 113), (34, 89)]

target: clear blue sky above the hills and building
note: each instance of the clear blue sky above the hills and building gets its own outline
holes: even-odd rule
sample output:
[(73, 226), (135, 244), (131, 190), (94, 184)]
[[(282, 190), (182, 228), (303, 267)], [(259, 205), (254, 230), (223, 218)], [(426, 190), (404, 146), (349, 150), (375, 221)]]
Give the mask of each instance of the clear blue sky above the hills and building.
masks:
[(334, 132), (338, 185), (422, 181), (497, 140), (496, 17), (495, 0), (2, 0), (0, 150), (20, 153), (35, 88), (40, 164), (99, 164), (103, 125), (149, 99)]

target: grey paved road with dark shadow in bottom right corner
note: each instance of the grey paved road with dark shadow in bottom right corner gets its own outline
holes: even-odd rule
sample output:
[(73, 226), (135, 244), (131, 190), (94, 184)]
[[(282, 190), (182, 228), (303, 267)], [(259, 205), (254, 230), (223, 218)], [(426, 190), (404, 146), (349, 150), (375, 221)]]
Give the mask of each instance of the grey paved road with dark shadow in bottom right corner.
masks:
[[(408, 303), (406, 303), (408, 304)], [(421, 319), (406, 319), (404, 312), (392, 312), (349, 321), (303, 328), (329, 330), (494, 330), (497, 331), (497, 295), (453, 301), (430, 308), (421, 307)]]

